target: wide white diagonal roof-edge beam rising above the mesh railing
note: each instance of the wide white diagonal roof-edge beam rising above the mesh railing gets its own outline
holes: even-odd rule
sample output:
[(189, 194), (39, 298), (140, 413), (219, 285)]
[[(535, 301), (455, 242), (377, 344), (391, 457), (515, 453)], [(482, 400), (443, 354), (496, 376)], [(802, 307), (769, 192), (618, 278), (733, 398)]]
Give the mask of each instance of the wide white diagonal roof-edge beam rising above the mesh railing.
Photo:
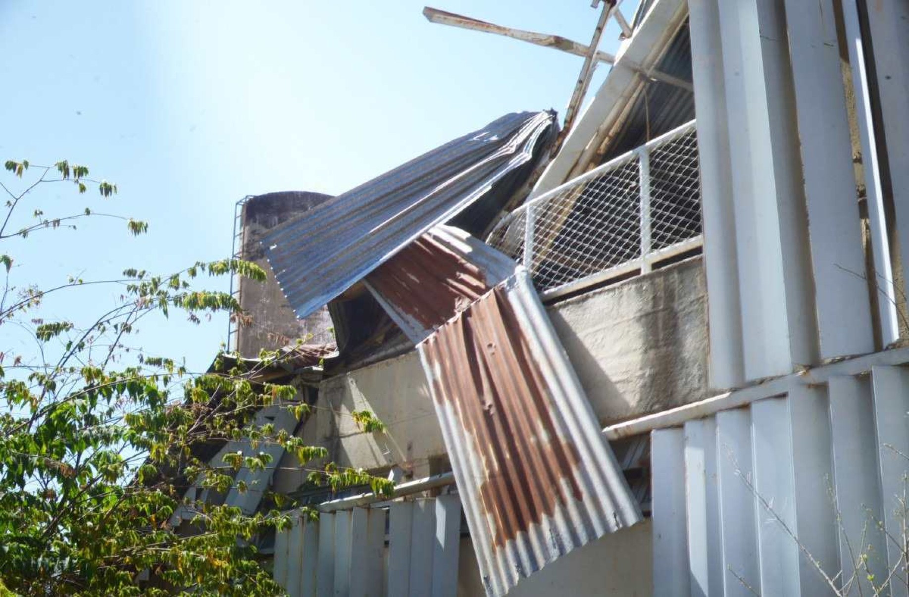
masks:
[(654, 0), (634, 34), (619, 47), (603, 85), (568, 131), (528, 198), (539, 197), (568, 180), (584, 156), (591, 153), (589, 146), (598, 146), (604, 131), (619, 124), (626, 105), (643, 83), (639, 71), (657, 64), (687, 14), (685, 0)]

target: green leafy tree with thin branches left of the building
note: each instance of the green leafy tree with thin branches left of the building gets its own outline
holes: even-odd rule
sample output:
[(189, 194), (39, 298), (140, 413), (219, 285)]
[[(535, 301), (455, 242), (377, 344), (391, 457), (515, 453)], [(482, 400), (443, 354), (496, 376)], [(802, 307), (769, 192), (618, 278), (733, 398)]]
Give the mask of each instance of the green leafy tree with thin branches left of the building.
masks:
[[(117, 187), (90, 178), (87, 167), (9, 160), (5, 169), (11, 180), (0, 183), (8, 196), (0, 242), (75, 228), (82, 218), (120, 219), (133, 235), (148, 229), (145, 222), (90, 207), (48, 217), (31, 205), (40, 195), (35, 191), (50, 184), (72, 185), (77, 194), (92, 186), (100, 197), (114, 197)], [(22, 188), (12, 190), (16, 185)], [(28, 211), (31, 218), (24, 216)], [(264, 510), (245, 515), (187, 497), (186, 488), (195, 483), (222, 494), (250, 491), (235, 481), (235, 471), (275, 466), (268, 445), (280, 445), (304, 468), (325, 459), (325, 449), (256, 422), (259, 410), (275, 405), (298, 420), (308, 413), (293, 386), (261, 380), (282, 353), (264, 353), (253, 365), (222, 353), (212, 369), (199, 372), (129, 343), (137, 325), (154, 316), (181, 313), (195, 323), (217, 313), (239, 318), (236, 299), (198, 288), (200, 278), (262, 280), (265, 272), (225, 259), (165, 276), (127, 268), (115, 279), (69, 278), (37, 288), (27, 280), (13, 284), (21, 272), (2, 244), (0, 264), (0, 338), (15, 330), (35, 347), (0, 346), (0, 593), (280, 593), (257, 562), (255, 538), (289, 525), (279, 508), (293, 502), (267, 494)], [(91, 318), (42, 319), (46, 298), (91, 285), (118, 288), (121, 298)], [(382, 429), (369, 413), (357, 413), (357, 422)], [(251, 450), (230, 451), (214, 465), (199, 457), (205, 453), (200, 449), (231, 440), (246, 440)], [(389, 481), (365, 471), (309, 466), (312, 481), (334, 490), (370, 484), (379, 493), (392, 491)], [(186, 518), (192, 532), (179, 523)]]

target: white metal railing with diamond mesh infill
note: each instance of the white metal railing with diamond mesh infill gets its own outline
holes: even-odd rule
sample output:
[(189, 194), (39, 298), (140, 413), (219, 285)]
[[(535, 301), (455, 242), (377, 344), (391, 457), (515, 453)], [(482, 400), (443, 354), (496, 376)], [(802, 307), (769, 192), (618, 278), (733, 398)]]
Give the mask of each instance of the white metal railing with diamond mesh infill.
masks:
[(534, 197), (488, 242), (524, 265), (544, 297), (564, 295), (702, 244), (695, 121)]

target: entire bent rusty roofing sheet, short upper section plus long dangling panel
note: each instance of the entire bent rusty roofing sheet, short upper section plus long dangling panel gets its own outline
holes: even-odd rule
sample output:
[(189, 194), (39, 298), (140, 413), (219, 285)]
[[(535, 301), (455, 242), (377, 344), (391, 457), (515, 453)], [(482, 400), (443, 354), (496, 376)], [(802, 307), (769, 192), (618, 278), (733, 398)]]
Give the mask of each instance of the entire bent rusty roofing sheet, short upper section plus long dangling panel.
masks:
[(641, 519), (523, 267), (440, 226), (367, 285), (422, 340), (488, 595)]

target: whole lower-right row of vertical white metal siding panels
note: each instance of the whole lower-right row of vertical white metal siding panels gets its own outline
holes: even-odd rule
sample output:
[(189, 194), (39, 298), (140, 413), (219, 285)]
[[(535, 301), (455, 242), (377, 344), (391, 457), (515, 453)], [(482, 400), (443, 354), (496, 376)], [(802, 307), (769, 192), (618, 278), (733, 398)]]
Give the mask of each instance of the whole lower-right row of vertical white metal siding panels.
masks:
[(654, 430), (654, 594), (909, 594), (907, 412), (874, 366)]

